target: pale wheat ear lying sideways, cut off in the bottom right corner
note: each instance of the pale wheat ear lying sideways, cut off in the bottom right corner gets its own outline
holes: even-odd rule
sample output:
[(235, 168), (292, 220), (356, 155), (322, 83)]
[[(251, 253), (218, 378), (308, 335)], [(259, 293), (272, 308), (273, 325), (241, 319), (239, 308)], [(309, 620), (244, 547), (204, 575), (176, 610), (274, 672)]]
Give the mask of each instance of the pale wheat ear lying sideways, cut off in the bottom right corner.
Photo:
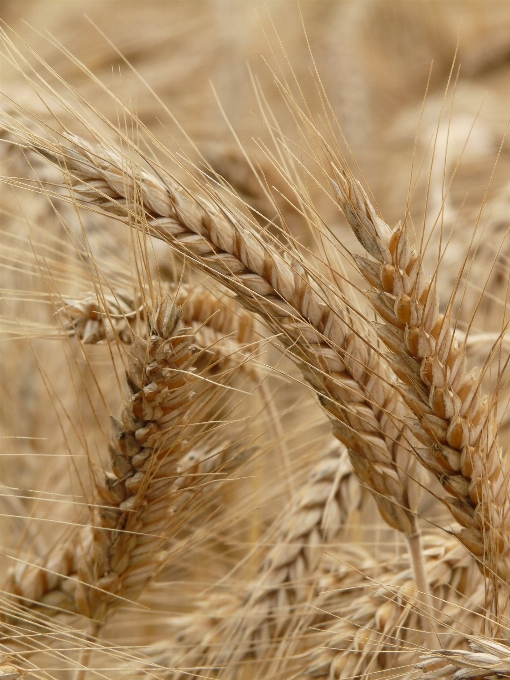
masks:
[(480, 678), (496, 680), (510, 677), (510, 647), (494, 640), (469, 638), (472, 651), (440, 649), (422, 657), (416, 668), (422, 678)]

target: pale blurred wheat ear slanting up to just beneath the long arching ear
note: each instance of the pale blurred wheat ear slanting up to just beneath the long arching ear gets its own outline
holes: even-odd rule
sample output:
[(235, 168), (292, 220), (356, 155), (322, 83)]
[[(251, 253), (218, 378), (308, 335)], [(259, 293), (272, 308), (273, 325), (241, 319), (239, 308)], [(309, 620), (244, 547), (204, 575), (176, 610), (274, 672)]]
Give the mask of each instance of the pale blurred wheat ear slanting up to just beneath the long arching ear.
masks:
[(347, 449), (333, 442), (275, 520), (276, 535), (268, 539), (273, 547), (224, 627), (220, 654), (229, 659), (234, 676), (243, 660), (262, 662), (271, 656), (296, 609), (315, 593), (325, 545), (338, 536), (362, 497)]

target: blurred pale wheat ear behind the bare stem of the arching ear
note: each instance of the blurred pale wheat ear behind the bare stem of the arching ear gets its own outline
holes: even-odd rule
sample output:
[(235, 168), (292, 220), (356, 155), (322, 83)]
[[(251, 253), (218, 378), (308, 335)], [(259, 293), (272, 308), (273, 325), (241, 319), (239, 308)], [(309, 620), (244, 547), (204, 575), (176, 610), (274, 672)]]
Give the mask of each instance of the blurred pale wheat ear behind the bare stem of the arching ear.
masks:
[[(470, 629), (472, 610), (478, 607), (483, 612), (483, 579), (470, 555), (456, 540), (445, 543), (437, 536), (435, 540), (436, 545), (425, 550), (434, 603), (433, 639), (427, 640), (424, 631), (419, 630), (420, 597), (410, 570), (400, 564), (397, 571), (367, 583), (364, 592), (345, 605), (342, 599), (335, 605), (332, 593), (328, 609), (334, 619), (324, 626), (317, 648), (310, 652), (305, 677), (336, 680), (371, 673), (378, 677), (385, 670), (415, 663), (420, 650), (433, 644), (437, 633), (446, 642), (455, 630), (452, 620), (459, 627), (466, 620), (466, 629)], [(445, 593), (448, 600), (444, 599)], [(452, 616), (454, 604), (457, 608)], [(327, 641), (324, 635), (328, 636)], [(462, 634), (457, 638), (462, 641)], [(458, 641), (451, 641), (454, 642)]]

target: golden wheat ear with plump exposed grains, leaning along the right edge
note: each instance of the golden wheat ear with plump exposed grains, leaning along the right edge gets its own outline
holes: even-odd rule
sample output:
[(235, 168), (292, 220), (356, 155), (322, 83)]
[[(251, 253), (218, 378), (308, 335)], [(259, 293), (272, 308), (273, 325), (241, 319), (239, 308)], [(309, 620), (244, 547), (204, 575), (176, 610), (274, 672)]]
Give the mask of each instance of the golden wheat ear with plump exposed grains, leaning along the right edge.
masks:
[(388, 361), (414, 413), (408, 421), (425, 445), (421, 462), (453, 498), (445, 503), (463, 529), (459, 539), (487, 575), (510, 579), (510, 462), (501, 452), (494, 405), (481, 394), (482, 374), (466, 372), (450, 307), (439, 313), (435, 276), (426, 278), (405, 225), (390, 229), (361, 185), (332, 165), (339, 206), (372, 259), (356, 257), (385, 324), (376, 326)]

